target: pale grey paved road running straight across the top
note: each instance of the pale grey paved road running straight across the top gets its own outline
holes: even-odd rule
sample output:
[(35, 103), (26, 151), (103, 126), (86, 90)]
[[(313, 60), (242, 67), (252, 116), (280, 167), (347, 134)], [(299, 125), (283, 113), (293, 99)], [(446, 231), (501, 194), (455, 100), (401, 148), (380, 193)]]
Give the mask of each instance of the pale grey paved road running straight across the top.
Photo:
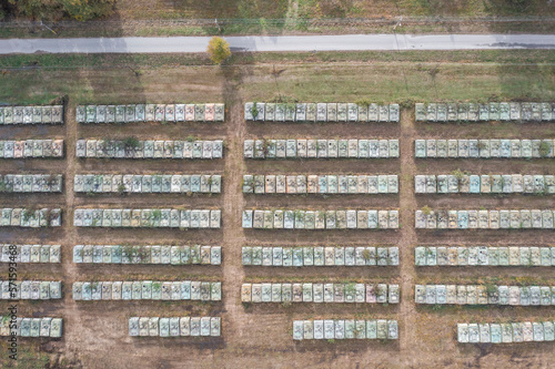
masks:
[[(225, 39), (235, 51), (555, 49), (553, 34), (344, 34)], [(0, 54), (203, 52), (209, 40), (209, 37), (8, 39), (0, 40)]]

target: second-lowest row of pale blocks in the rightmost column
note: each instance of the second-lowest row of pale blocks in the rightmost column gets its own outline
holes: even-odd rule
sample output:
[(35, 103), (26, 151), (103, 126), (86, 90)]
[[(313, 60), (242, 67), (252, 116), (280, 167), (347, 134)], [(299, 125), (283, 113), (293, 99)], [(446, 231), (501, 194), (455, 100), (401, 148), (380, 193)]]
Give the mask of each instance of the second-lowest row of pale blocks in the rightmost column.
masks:
[(416, 304), (553, 306), (555, 286), (416, 285)]

